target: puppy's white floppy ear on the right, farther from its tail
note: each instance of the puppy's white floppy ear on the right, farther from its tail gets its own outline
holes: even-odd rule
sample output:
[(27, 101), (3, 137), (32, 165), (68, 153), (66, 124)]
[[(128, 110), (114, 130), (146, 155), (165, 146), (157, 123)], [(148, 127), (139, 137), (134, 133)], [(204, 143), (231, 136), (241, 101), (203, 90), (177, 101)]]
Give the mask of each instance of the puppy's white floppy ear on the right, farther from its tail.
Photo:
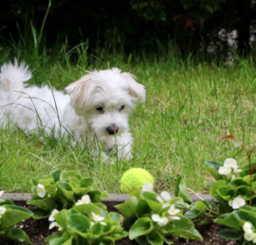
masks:
[(124, 78), (130, 89), (131, 96), (137, 98), (137, 103), (143, 103), (146, 100), (146, 90), (142, 84), (137, 83), (136, 76), (132, 75), (131, 73), (124, 72), (121, 73), (120, 76)]

